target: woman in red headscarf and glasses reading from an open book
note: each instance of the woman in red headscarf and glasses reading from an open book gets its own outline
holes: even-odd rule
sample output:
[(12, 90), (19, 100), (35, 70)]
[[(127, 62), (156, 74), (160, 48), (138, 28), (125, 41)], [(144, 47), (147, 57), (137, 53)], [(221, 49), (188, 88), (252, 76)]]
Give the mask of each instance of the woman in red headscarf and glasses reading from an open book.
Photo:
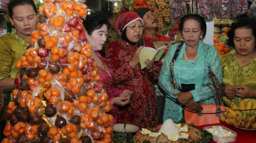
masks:
[[(154, 84), (161, 69), (161, 62), (147, 60), (147, 67), (141, 70), (140, 51), (137, 42), (143, 33), (143, 21), (134, 12), (125, 12), (116, 21), (115, 29), (121, 39), (106, 46), (106, 64), (114, 72), (113, 84), (119, 89), (129, 89), (134, 94), (131, 103), (119, 108), (120, 122), (131, 123), (141, 128), (157, 126), (157, 103)], [(145, 47), (152, 47), (152, 41), (141, 39)]]

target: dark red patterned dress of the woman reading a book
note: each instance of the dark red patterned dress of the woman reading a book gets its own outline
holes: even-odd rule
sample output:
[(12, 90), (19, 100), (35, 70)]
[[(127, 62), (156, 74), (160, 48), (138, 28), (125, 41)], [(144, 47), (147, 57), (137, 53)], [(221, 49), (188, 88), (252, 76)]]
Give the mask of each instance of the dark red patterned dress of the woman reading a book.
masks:
[[(153, 42), (142, 39), (146, 47), (152, 47)], [(134, 92), (131, 103), (120, 108), (120, 123), (131, 123), (141, 128), (157, 126), (157, 102), (154, 84), (147, 73), (141, 73), (141, 66), (134, 69), (129, 65), (137, 44), (128, 44), (120, 39), (107, 45), (106, 64), (114, 72), (113, 83), (118, 89), (129, 89)], [(161, 70), (162, 62), (156, 62), (150, 74), (156, 80)]]

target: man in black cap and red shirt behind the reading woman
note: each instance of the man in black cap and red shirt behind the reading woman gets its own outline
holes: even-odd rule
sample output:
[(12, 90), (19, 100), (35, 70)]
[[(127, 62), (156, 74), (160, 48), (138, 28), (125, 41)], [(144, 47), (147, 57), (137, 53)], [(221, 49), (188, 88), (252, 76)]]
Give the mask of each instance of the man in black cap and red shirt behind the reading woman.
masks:
[(149, 8), (138, 8), (136, 11), (144, 23), (143, 36), (152, 42), (170, 42), (169, 38), (156, 32), (158, 22), (153, 11)]

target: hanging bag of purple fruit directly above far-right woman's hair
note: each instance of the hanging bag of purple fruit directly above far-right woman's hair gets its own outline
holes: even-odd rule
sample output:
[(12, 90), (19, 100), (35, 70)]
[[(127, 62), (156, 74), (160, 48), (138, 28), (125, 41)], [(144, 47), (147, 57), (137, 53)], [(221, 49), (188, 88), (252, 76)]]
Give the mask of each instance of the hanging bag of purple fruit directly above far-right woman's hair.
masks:
[(248, 2), (247, 0), (234, 0), (232, 6), (232, 15), (234, 17), (247, 13)]

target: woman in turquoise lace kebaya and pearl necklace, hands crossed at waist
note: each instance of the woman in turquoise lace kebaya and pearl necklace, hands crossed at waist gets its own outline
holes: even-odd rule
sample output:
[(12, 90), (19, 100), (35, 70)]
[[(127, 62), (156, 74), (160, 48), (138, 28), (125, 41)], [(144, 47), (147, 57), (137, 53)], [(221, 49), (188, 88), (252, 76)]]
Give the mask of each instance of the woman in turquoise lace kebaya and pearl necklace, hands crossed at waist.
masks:
[[(179, 30), (185, 42), (175, 44), (168, 50), (158, 79), (169, 96), (166, 98), (164, 120), (175, 122), (182, 119), (179, 104), (196, 112), (202, 109), (199, 101), (215, 104), (212, 91), (204, 85), (213, 83), (220, 87), (222, 82), (221, 62), (216, 48), (201, 42), (206, 34), (204, 18), (196, 14), (185, 15)], [(215, 92), (220, 93), (220, 90)]]

